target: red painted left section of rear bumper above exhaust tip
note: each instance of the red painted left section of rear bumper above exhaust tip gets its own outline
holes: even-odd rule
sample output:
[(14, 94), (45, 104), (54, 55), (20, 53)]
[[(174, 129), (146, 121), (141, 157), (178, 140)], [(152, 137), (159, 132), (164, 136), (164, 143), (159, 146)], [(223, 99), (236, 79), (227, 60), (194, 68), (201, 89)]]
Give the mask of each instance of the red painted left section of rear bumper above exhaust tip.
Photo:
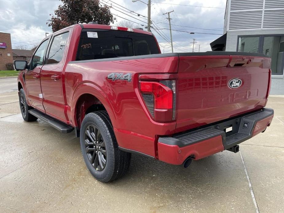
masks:
[(177, 145), (167, 145), (158, 142), (159, 160), (174, 165), (181, 165), (190, 155), (194, 155), (194, 160), (198, 160), (223, 150), (222, 136), (213, 137), (181, 148)]

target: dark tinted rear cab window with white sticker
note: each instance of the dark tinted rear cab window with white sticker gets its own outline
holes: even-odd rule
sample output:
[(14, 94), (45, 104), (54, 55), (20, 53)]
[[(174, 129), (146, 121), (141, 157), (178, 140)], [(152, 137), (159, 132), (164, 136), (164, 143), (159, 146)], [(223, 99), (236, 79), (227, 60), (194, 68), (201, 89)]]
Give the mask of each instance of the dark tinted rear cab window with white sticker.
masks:
[(76, 60), (158, 54), (154, 36), (109, 29), (82, 29)]

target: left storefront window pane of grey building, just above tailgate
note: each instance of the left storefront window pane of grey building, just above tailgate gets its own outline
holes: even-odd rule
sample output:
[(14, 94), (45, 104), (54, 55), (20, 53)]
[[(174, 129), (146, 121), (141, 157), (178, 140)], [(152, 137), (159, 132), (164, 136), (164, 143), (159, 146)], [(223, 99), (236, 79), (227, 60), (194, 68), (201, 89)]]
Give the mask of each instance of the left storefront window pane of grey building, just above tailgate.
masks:
[(259, 52), (259, 37), (239, 37), (239, 52)]

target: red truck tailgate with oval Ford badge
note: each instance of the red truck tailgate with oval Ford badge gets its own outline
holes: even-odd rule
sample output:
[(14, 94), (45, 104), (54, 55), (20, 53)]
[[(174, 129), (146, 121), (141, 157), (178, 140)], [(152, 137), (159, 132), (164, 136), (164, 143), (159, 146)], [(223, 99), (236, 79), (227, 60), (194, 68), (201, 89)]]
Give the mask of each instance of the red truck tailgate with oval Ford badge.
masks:
[(270, 75), (265, 56), (180, 55), (176, 132), (263, 108)]

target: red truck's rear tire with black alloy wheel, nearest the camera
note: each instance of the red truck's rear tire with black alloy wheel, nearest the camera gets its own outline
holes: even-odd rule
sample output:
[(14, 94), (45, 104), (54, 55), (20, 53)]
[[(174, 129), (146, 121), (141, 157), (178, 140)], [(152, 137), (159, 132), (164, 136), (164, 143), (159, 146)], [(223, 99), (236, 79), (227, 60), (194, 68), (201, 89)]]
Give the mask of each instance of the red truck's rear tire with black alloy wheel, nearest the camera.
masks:
[(131, 153), (118, 148), (106, 111), (95, 111), (85, 116), (80, 129), (80, 144), (84, 161), (97, 180), (110, 182), (127, 172)]

